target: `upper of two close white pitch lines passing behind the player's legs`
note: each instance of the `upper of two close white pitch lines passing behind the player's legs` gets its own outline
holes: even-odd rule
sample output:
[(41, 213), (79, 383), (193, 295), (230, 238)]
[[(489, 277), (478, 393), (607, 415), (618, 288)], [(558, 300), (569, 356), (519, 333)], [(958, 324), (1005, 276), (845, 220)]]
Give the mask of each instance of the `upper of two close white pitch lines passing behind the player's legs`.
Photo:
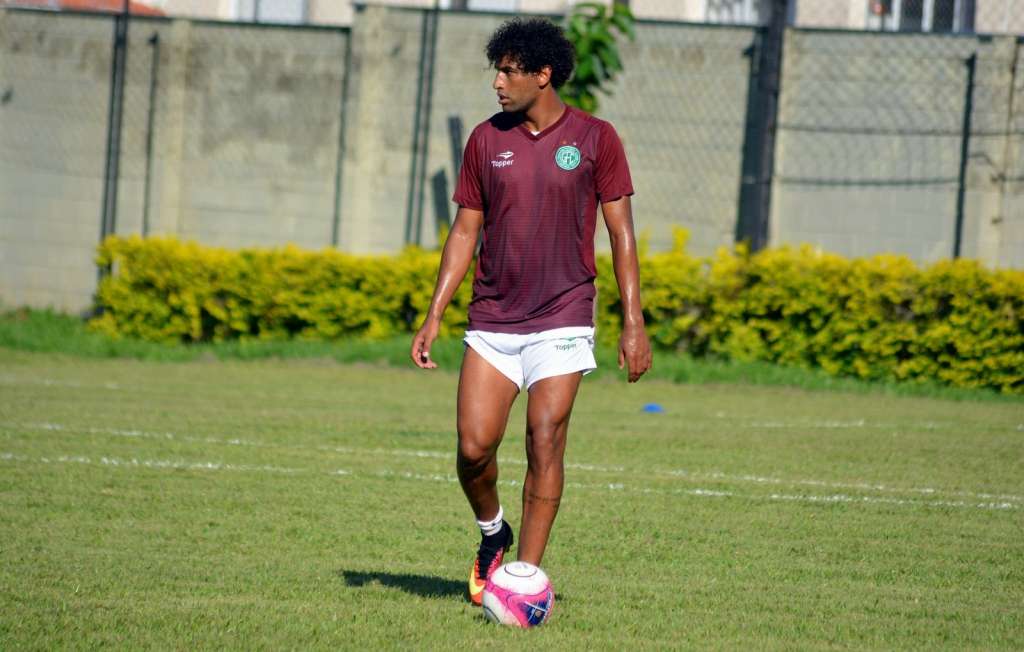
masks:
[[(291, 445), (291, 444), (275, 444), (267, 443), (261, 441), (254, 441), (250, 439), (219, 439), (216, 437), (191, 437), (188, 435), (177, 435), (169, 432), (145, 432), (133, 429), (118, 429), (118, 428), (79, 428), (79, 427), (69, 427), (60, 424), (52, 423), (39, 423), (39, 424), (0, 424), (0, 428), (24, 428), (30, 430), (45, 430), (45, 431), (55, 431), (55, 432), (75, 432), (75, 433), (87, 433), (87, 434), (100, 434), (100, 435), (113, 435), (118, 437), (139, 437), (146, 439), (164, 439), (173, 441), (182, 441), (190, 443), (211, 443), (211, 444), (222, 444), (231, 446), (253, 446), (260, 448), (290, 448), (297, 450), (319, 450), (325, 452), (337, 452), (341, 454), (375, 454), (375, 455), (390, 455), (390, 457), (401, 457), (401, 458), (419, 458), (419, 459), (431, 459), (431, 460), (447, 460), (454, 461), (455, 454), (452, 452), (443, 452), (439, 450), (417, 450), (410, 448), (358, 448), (352, 446), (301, 446), (301, 445)], [(502, 458), (503, 464), (512, 464), (517, 466), (525, 466), (526, 461), (516, 458)], [(880, 493), (916, 493), (923, 495), (931, 495), (940, 497), (943, 495), (947, 496), (957, 496), (962, 498), (972, 498), (981, 501), (1001, 501), (1011, 503), (1024, 503), (1024, 496), (1017, 495), (1013, 493), (989, 493), (989, 492), (975, 492), (975, 491), (959, 491), (953, 489), (937, 489), (933, 487), (898, 487), (890, 484), (882, 483), (868, 483), (868, 482), (838, 482), (831, 480), (815, 480), (815, 479), (785, 479), (776, 478), (769, 476), (759, 476), (751, 474), (730, 474), (721, 472), (693, 472), (686, 471), (683, 469), (674, 469), (667, 471), (659, 470), (646, 470), (642, 473), (628, 470), (624, 467), (609, 467), (594, 464), (579, 464), (579, 463), (567, 463), (565, 465), (566, 469), (573, 469), (580, 471), (597, 472), (597, 473), (627, 473), (631, 475), (658, 475), (668, 476), (672, 478), (685, 479), (687, 481), (700, 482), (700, 481), (719, 481), (719, 482), (734, 482), (734, 483), (754, 483), (754, 484), (769, 484), (769, 485), (779, 485), (779, 486), (811, 486), (820, 487), (827, 489), (856, 489), (862, 491), (876, 491)]]

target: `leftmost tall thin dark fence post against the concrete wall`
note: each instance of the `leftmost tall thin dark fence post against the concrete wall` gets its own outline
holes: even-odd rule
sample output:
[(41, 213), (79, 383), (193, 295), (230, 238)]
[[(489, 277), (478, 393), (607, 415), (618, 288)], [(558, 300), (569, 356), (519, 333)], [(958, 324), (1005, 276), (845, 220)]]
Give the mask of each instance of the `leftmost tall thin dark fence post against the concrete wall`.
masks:
[[(128, 0), (114, 17), (114, 53), (111, 59), (111, 99), (106, 116), (106, 169), (104, 171), (103, 209), (99, 241), (117, 230), (118, 176), (121, 165), (121, 125), (124, 114), (125, 71), (128, 64)], [(105, 270), (100, 269), (102, 276)]]

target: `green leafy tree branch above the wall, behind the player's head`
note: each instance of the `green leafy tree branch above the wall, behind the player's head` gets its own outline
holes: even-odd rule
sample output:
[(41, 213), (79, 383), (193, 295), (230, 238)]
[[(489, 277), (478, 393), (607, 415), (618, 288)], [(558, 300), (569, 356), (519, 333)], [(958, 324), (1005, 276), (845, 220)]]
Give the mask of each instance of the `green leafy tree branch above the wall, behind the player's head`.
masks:
[(566, 104), (595, 113), (597, 93), (611, 95), (606, 86), (623, 72), (618, 39), (636, 38), (633, 12), (626, 2), (611, 6), (600, 2), (581, 2), (565, 18), (565, 36), (575, 47), (577, 66), (572, 78), (560, 94)]

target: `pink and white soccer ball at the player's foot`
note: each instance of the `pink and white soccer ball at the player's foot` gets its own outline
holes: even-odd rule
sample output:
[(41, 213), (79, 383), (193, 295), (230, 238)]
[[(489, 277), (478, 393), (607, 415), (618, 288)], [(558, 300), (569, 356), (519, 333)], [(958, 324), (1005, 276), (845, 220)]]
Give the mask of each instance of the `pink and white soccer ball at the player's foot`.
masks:
[(555, 605), (555, 590), (543, 570), (526, 562), (505, 564), (487, 577), (483, 615), (513, 627), (544, 624)]

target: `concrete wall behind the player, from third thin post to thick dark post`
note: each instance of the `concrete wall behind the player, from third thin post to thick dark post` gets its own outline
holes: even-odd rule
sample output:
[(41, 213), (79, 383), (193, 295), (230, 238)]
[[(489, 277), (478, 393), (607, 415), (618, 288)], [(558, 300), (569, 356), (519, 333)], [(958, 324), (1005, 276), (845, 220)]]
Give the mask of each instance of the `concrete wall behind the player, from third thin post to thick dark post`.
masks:
[[(393, 251), (401, 242), (395, 238), (406, 225), (422, 15), (368, 7), (356, 16), (344, 170), (345, 187), (359, 191), (346, 190), (343, 214), (376, 216), (345, 220), (343, 242), (356, 250)], [(440, 14), (426, 176), (443, 174), (447, 197), (456, 180), (449, 118), (462, 120), (465, 140), (499, 108), (483, 47), (502, 19)], [(753, 39), (749, 28), (644, 23), (622, 50), (629, 74), (614, 95), (602, 97), (600, 116), (623, 138), (637, 229), (652, 251), (671, 247), (679, 225), (700, 254), (732, 242), (750, 73), (743, 50)], [(418, 237), (428, 246), (437, 231), (433, 192), (428, 183)], [(598, 242), (606, 242), (601, 228)]]

